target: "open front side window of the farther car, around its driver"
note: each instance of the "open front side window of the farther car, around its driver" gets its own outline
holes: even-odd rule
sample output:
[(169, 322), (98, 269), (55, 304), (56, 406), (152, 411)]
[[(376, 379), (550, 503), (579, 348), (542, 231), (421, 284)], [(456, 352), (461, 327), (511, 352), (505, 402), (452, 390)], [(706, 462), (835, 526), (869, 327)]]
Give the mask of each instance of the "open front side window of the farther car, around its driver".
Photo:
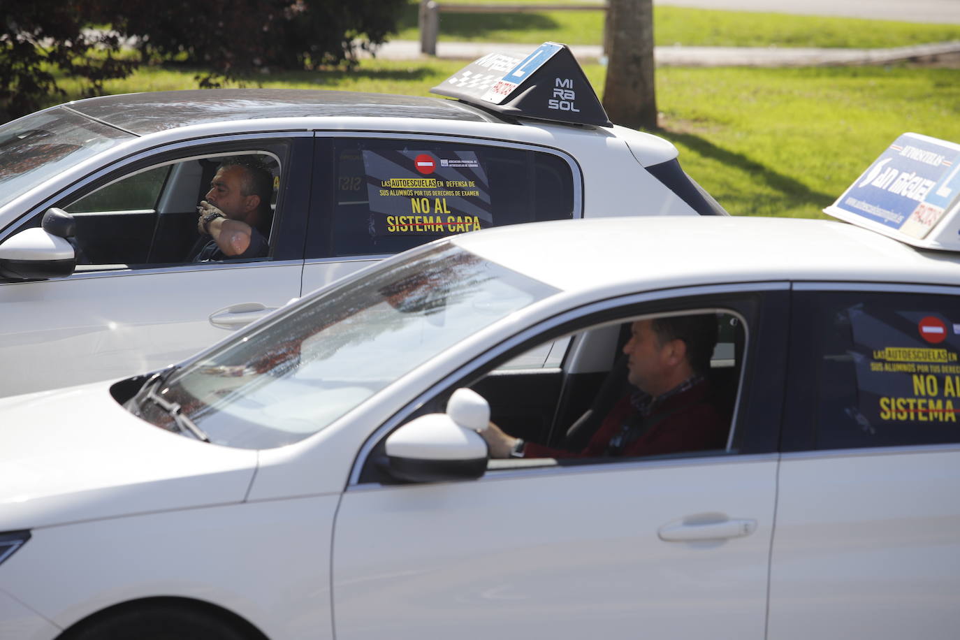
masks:
[[(85, 188), (79, 197), (68, 197), (58, 205), (76, 221), (73, 242), (78, 271), (188, 263), (198, 256), (203, 258), (204, 248), (212, 241), (198, 229), (198, 207), (204, 200), (228, 217), (250, 223), (262, 236), (259, 250), (243, 257), (269, 257), (285, 155), (282, 142), (272, 143), (267, 149), (209, 150), (114, 174)], [(236, 164), (243, 165), (242, 176), (235, 180), (239, 200), (213, 193), (218, 171)], [(256, 204), (249, 211), (241, 210), (244, 203), (254, 202), (244, 200), (252, 193), (257, 194)], [(38, 226), (41, 217), (35, 216), (23, 228)], [(209, 259), (228, 258), (212, 254)]]

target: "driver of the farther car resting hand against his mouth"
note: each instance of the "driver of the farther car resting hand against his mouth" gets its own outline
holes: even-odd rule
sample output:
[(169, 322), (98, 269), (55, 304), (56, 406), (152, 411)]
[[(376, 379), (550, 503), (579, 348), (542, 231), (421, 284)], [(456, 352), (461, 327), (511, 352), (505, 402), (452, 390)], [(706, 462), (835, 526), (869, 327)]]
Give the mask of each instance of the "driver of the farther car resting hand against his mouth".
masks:
[(209, 241), (193, 262), (262, 258), (270, 252), (274, 178), (252, 155), (226, 159), (197, 211), (197, 230)]

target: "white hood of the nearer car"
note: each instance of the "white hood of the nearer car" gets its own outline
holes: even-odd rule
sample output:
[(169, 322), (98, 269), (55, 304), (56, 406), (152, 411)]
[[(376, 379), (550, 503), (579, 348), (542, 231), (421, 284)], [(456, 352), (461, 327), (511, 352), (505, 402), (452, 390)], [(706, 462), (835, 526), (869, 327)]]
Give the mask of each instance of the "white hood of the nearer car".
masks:
[(109, 383), (0, 400), (0, 531), (240, 502), (256, 451), (133, 416)]

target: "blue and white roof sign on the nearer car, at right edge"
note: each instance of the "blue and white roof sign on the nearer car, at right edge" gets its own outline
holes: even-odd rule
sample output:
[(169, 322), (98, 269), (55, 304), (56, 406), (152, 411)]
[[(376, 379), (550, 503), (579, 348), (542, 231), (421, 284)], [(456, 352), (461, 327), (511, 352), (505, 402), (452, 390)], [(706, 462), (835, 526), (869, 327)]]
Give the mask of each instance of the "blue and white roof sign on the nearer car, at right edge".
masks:
[(960, 250), (960, 145), (903, 133), (824, 212), (914, 247)]

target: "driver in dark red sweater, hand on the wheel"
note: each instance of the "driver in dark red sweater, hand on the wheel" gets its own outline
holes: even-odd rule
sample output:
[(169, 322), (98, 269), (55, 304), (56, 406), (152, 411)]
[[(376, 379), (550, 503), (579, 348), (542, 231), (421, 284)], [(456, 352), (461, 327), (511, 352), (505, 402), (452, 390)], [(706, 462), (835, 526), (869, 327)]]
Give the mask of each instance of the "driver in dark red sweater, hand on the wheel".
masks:
[(491, 423), (482, 432), (491, 458), (653, 456), (722, 449), (728, 422), (714, 403), (707, 378), (716, 344), (713, 314), (637, 320), (623, 352), (629, 357), (627, 392), (579, 452), (524, 442)]

